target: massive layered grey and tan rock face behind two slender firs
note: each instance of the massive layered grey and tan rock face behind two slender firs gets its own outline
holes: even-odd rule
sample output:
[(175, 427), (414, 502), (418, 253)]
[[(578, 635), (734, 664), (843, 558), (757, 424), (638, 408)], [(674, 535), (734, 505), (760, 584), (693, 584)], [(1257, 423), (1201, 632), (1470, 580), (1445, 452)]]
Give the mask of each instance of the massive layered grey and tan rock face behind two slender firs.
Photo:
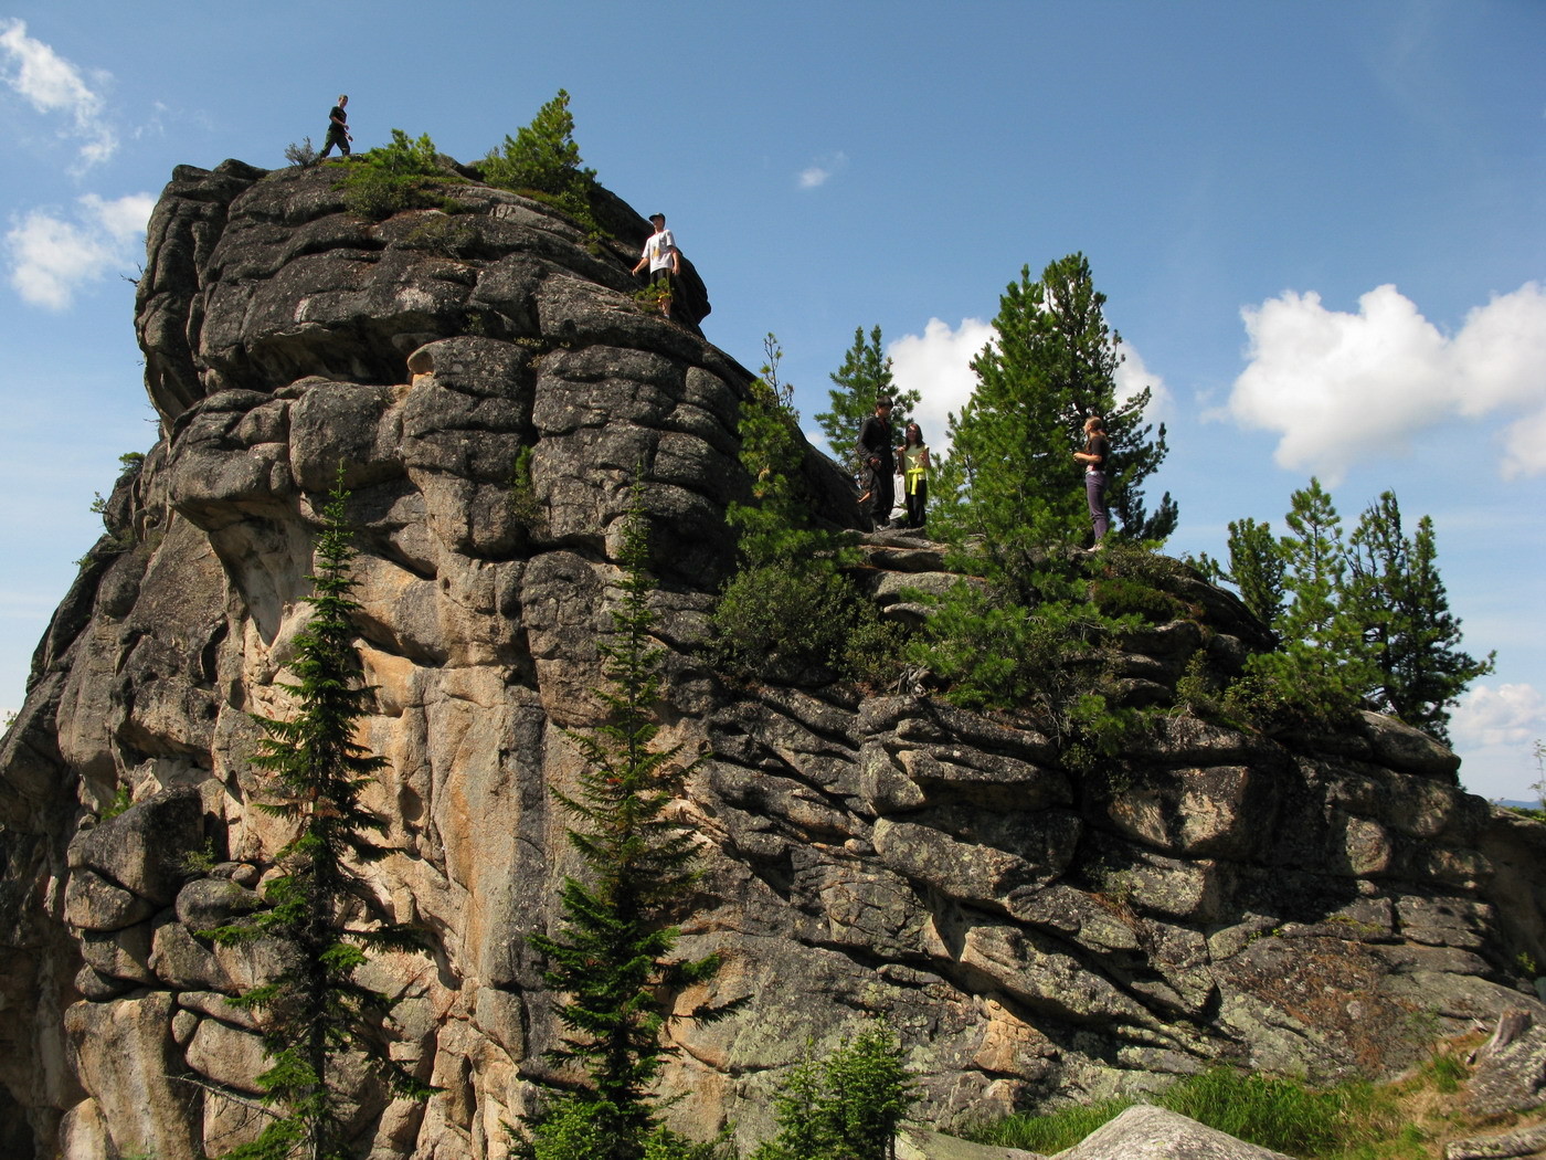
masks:
[[(366, 874), (430, 945), (365, 974), (394, 998), (393, 1053), (442, 1089), (413, 1104), (362, 1080), (362, 1152), (502, 1155), (550, 1075), (555, 1004), (523, 934), (555, 930), (574, 871), (552, 790), (580, 769), (566, 730), (598, 721), (635, 472), (663, 739), (711, 753), (676, 806), (707, 868), (682, 953), (725, 968), (676, 999), (744, 999), (673, 1029), (686, 1131), (754, 1138), (781, 1069), (866, 1013), (943, 1123), (1214, 1061), (1398, 1069), (1529, 1002), (1543, 827), (1461, 792), (1453, 755), (1399, 724), (1285, 744), (1177, 716), (1079, 773), (1025, 722), (714, 673), (750, 376), (631, 299), (626, 244), (587, 249), (513, 193), (456, 198), (470, 212), (371, 224), (326, 167), (226, 162), (179, 169), (156, 209), (138, 325), (165, 438), (114, 490), (0, 753), (6, 1155), (181, 1160), (255, 1131), (210, 1086), (263, 1070), (226, 999), (266, 951), (196, 931), (261, 905), (288, 837), (252, 809), (250, 715), (291, 711), (277, 684), (340, 462), (377, 687), (362, 739), (390, 763), (371, 806), (393, 854)], [(805, 476), (856, 523), (835, 467), (812, 452)], [(870, 561), (883, 603), (938, 580), (921, 544)], [(1237, 664), (1258, 629), (1189, 583)], [(1135, 636), (1127, 677), (1173, 685), (1197, 643), (1195, 625)]]

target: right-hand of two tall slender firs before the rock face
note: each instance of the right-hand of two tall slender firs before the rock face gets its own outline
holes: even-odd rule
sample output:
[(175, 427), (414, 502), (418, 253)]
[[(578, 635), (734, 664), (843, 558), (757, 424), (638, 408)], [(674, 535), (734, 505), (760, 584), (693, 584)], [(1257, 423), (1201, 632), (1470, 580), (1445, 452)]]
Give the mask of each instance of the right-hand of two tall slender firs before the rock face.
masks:
[[(717, 956), (673, 962), (679, 931), (673, 917), (697, 877), (699, 849), (691, 831), (666, 817), (697, 759), (683, 764), (682, 747), (656, 749), (654, 708), (660, 699), (662, 650), (651, 642), (654, 582), (642, 484), (625, 524), (623, 599), (612, 609), (612, 636), (600, 645), (611, 688), (600, 690), (608, 719), (594, 733), (569, 733), (584, 755), (575, 795), (555, 797), (574, 817), (569, 841), (586, 868), (564, 879), (564, 926), (555, 936), (529, 934), (547, 959), (543, 979), (566, 996), (560, 1019), (569, 1035), (552, 1056), (584, 1067), (589, 1087), (546, 1117), (524, 1140), (535, 1157), (638, 1160), (662, 1131), (649, 1087), (660, 1072), (668, 1018), (663, 991), (713, 976)], [(714, 1012), (694, 1012), (713, 1018)]]

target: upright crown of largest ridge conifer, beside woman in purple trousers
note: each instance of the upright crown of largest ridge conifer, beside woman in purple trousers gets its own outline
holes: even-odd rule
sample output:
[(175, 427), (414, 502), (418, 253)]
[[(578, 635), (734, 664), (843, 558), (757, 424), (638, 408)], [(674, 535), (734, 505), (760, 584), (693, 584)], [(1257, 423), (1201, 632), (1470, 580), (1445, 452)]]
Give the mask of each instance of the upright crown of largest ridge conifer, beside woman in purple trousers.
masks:
[(1124, 534), (1163, 540), (1175, 529), (1169, 493), (1152, 515), (1144, 509), (1142, 483), (1164, 461), (1166, 432), (1142, 421), (1149, 388), (1116, 401), (1121, 336), (1107, 326), (1104, 305), (1082, 254), (1053, 261), (1039, 281), (1022, 268), (999, 299), (996, 340), (972, 360), (977, 390), (951, 416), (951, 484), (972, 531), (1008, 537), (1011, 554), (1088, 534), (1073, 452), (1084, 447), (1090, 415), (1105, 418), (1107, 503)]

